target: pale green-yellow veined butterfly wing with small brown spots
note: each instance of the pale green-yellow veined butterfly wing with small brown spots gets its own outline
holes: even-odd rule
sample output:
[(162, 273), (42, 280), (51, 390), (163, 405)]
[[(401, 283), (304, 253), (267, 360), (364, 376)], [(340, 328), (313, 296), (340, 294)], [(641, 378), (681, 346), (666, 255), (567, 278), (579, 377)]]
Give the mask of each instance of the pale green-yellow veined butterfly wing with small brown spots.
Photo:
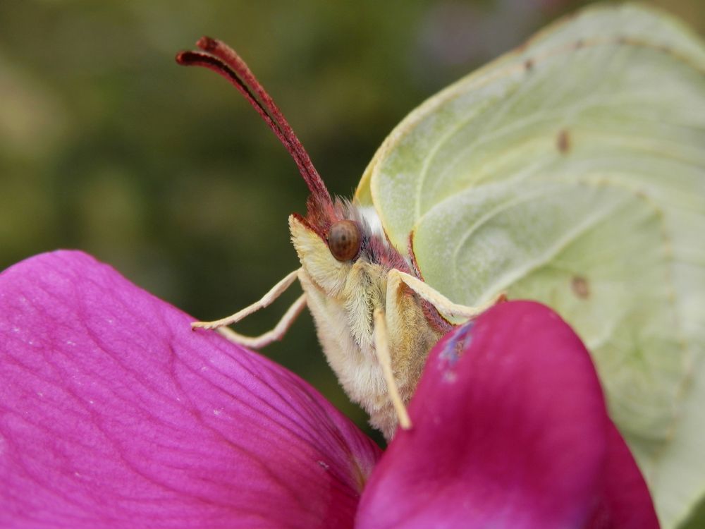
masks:
[(400, 251), (413, 238), (424, 280), (455, 302), (505, 291), (558, 310), (663, 526), (692, 513), (705, 497), (697, 36), (639, 6), (588, 8), (413, 111), (357, 199)]

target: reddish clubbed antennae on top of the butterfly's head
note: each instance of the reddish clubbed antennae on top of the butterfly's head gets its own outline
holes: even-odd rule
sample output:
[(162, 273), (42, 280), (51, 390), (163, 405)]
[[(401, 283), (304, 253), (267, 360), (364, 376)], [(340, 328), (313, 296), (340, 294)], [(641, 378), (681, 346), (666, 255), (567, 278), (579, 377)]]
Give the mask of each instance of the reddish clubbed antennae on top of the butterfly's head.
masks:
[[(181, 51), (176, 55), (176, 62), (182, 66), (208, 68), (226, 78), (245, 96), (296, 162), (311, 192), (308, 202), (309, 217), (312, 217), (311, 220), (316, 224), (329, 224), (324, 219), (326, 217), (330, 219), (333, 214), (331, 195), (288, 121), (274, 104), (274, 100), (266, 93), (250, 68), (247, 68), (245, 61), (240, 59), (235, 50), (227, 44), (210, 37), (201, 37), (196, 45), (204, 52)], [(325, 227), (327, 229), (327, 226)]]

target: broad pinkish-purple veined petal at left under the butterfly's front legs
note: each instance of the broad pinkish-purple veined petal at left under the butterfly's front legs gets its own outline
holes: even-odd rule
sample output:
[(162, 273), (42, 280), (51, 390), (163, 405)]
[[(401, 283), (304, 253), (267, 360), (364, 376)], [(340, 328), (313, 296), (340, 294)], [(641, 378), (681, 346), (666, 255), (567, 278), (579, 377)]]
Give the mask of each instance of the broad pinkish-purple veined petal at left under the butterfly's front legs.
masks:
[(352, 525), (379, 449), (81, 253), (0, 275), (0, 527)]

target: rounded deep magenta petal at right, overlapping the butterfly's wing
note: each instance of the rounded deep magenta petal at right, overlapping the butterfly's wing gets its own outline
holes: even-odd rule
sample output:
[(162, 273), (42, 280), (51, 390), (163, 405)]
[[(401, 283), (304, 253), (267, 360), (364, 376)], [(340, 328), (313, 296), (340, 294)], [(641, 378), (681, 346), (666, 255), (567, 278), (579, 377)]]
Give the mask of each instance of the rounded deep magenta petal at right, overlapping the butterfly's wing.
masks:
[(409, 412), (359, 528), (658, 527), (589, 354), (543, 305), (503, 303), (448, 334)]

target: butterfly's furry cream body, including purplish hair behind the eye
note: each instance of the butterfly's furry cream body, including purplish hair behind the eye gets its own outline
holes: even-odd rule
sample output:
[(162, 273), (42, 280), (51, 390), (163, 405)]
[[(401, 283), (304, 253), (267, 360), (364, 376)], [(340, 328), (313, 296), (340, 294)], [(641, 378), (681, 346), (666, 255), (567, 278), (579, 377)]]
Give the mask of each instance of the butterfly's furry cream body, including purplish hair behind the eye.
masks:
[(346, 217), (360, 226), (363, 241), (356, 259), (344, 262), (331, 255), (326, 241), (305, 219), (289, 217), (302, 265), (298, 279), (338, 381), (369, 413), (370, 424), (390, 438), (397, 418), (375, 351), (375, 310), (386, 318), (391, 369), (403, 401), (411, 398), (428, 352), (450, 324), (427, 316), (427, 303), (410, 288), (388, 281), (390, 274), (396, 275), (393, 271), (408, 273), (410, 267), (354, 205), (345, 209)]

